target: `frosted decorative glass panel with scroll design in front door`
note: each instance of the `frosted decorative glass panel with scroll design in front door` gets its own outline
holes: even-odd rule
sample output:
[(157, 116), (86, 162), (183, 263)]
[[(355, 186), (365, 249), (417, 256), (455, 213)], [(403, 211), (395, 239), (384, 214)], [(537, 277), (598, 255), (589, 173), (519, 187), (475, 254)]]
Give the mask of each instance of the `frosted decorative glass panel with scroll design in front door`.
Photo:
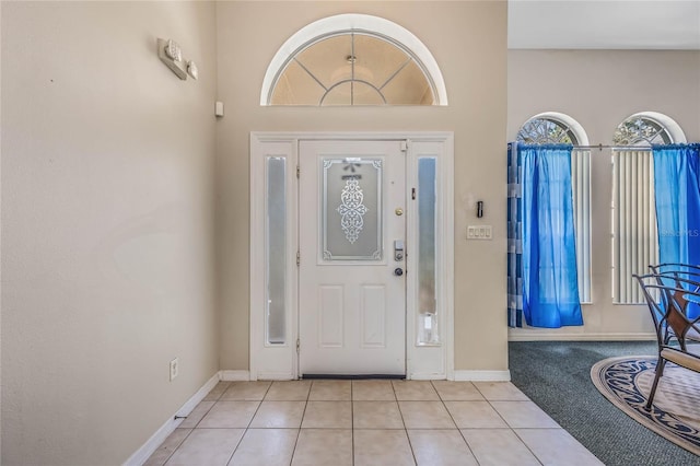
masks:
[(380, 158), (322, 158), (322, 256), (382, 260)]

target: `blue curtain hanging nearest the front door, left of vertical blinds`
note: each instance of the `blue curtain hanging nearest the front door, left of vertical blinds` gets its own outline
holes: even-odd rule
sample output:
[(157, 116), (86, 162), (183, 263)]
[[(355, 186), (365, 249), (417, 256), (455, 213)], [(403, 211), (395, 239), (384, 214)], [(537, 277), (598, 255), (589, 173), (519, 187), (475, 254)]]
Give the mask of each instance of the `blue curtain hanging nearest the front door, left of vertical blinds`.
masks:
[(522, 308), (527, 325), (583, 325), (571, 190), (571, 145), (516, 145)]

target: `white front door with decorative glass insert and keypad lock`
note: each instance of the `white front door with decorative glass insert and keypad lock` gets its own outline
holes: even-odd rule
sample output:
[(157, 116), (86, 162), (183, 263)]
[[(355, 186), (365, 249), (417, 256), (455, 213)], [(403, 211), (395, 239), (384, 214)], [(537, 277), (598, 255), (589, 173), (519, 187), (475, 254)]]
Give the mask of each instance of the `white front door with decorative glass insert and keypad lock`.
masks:
[(406, 374), (405, 142), (300, 141), (300, 375)]

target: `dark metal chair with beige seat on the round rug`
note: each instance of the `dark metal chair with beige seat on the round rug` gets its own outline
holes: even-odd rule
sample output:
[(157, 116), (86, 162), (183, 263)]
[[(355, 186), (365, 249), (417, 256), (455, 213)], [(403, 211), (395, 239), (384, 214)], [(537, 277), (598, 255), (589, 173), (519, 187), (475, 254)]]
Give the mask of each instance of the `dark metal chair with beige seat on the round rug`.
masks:
[(667, 361), (700, 372), (700, 354), (689, 351), (686, 345), (688, 333), (700, 330), (700, 316), (688, 318), (685, 313), (688, 302), (700, 303), (700, 291), (660, 284), (656, 275), (635, 275), (634, 278), (639, 281), (649, 305), (658, 343), (656, 374), (645, 405), (646, 410), (651, 410), (658, 380), (664, 374)]

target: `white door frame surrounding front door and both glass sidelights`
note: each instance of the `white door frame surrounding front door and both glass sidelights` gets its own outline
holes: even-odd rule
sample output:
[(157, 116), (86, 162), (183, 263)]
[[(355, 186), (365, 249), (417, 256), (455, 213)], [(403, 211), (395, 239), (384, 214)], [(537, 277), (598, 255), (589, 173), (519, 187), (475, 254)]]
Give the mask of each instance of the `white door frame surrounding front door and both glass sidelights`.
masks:
[[(249, 380), (295, 380), (299, 377), (299, 251), (298, 171), (302, 140), (405, 140), (407, 143), (407, 238), (406, 238), (406, 378), (454, 380), (454, 133), (452, 131), (396, 132), (250, 132), (250, 256), (249, 256)], [(265, 338), (267, 308), (267, 177), (266, 159), (285, 161), (285, 286), (284, 342)], [(440, 345), (418, 345), (418, 273), (411, 252), (417, 251), (418, 202), (411, 188), (418, 185), (418, 160), (436, 160), (436, 301)], [(303, 342), (302, 342), (303, 343)]]

